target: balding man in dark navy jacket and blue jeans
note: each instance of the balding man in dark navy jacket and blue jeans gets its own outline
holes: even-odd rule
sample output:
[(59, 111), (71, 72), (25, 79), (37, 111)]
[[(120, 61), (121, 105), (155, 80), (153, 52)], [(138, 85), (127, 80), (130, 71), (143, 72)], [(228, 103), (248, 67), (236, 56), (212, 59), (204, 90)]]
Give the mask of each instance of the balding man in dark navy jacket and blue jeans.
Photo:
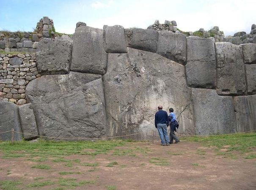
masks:
[(166, 111), (162, 110), (162, 106), (158, 106), (158, 111), (155, 114), (155, 127), (158, 130), (159, 136), (161, 138), (161, 145), (169, 146), (169, 137), (167, 135), (167, 126), (168, 122), (168, 114)]

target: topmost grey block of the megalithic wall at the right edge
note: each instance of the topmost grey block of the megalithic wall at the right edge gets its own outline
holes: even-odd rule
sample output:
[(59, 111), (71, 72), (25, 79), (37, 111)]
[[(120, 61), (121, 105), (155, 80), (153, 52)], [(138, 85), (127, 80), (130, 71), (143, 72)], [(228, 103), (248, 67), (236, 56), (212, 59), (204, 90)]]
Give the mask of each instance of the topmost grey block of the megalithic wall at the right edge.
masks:
[(256, 44), (245, 43), (242, 44), (242, 52), (245, 63), (256, 63)]

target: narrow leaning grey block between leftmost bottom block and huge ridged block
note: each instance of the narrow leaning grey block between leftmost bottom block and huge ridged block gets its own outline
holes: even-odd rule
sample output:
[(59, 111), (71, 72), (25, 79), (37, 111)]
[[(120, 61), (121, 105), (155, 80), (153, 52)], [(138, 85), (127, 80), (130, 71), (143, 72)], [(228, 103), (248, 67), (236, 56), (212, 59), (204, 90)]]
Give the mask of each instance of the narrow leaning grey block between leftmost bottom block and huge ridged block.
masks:
[[(21, 123), (21, 128), (26, 140), (36, 138), (38, 135), (38, 130), (36, 126), (36, 119), (31, 103), (19, 106), (19, 118)], [(29, 135), (31, 134), (31, 135)]]

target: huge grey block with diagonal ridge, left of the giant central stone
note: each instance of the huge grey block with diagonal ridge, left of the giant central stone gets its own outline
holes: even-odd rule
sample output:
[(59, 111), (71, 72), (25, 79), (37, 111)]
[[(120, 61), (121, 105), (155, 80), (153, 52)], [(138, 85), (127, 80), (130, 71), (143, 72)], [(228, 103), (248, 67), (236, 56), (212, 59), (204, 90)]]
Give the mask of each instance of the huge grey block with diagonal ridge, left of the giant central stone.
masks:
[(101, 75), (70, 72), (44, 75), (30, 81), (32, 104), (40, 135), (97, 138), (107, 128)]

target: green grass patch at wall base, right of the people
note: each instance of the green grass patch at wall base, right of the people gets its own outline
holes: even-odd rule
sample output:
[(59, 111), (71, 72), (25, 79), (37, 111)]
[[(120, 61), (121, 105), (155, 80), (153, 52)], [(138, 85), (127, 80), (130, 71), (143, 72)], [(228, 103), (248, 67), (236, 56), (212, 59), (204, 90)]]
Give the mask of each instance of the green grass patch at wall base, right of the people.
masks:
[[(256, 152), (256, 133), (236, 133), (232, 135), (222, 136), (193, 136), (183, 138), (184, 141), (200, 142), (206, 147), (216, 147), (215, 151), (219, 155), (232, 155), (232, 152), (239, 152), (239, 154), (246, 158), (248, 154), (254, 155)], [(227, 152), (220, 152), (220, 149), (227, 149)], [(252, 158), (251, 158), (252, 159)]]

